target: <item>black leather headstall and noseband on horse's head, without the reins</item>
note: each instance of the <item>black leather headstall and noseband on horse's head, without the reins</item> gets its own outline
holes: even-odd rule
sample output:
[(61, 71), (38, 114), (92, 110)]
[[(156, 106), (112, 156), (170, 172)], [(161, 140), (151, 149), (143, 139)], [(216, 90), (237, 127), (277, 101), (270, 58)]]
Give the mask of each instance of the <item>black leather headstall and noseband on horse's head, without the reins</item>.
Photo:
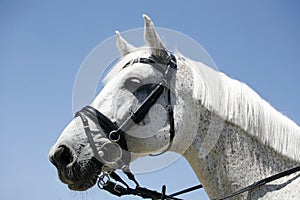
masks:
[[(162, 152), (164, 153), (167, 151), (171, 145), (175, 135), (175, 127), (174, 127), (174, 114), (173, 114), (173, 106), (171, 103), (171, 90), (170, 90), (170, 82), (172, 77), (175, 75), (174, 72), (177, 70), (177, 62), (176, 58), (173, 54), (170, 54), (170, 60), (167, 64), (160, 62), (156, 57), (151, 56), (149, 58), (138, 58), (131, 60), (128, 62), (123, 68), (127, 67), (128, 65), (132, 65), (135, 63), (144, 63), (150, 64), (159, 71), (161, 71), (164, 76), (163, 79), (156, 85), (156, 87), (152, 90), (150, 95), (142, 102), (142, 104), (120, 125), (112, 122), (108, 117), (102, 114), (97, 109), (93, 108), (92, 106), (86, 106), (82, 108), (75, 114), (75, 117), (80, 117), (84, 126), (84, 131), (87, 135), (88, 141), (90, 146), (93, 150), (94, 156), (97, 160), (101, 161), (104, 168), (108, 168), (108, 171), (112, 171), (114, 169), (122, 169), (123, 171), (129, 170), (129, 163), (131, 160), (130, 152), (128, 152), (128, 147), (126, 143), (126, 131), (128, 131), (133, 125), (138, 124), (141, 122), (145, 116), (149, 113), (151, 107), (157, 102), (159, 97), (163, 94), (164, 91), (167, 92), (168, 98), (168, 119), (169, 119), (169, 133), (170, 133), (170, 141), (168, 147)], [(162, 70), (162, 66), (164, 65), (165, 69)], [(100, 131), (92, 131), (90, 129), (87, 117), (91, 119), (95, 124), (99, 124), (101, 129), (104, 132), (103, 137), (109, 139), (111, 144), (103, 144), (101, 145), (100, 149), (96, 147), (92, 134), (102, 134)], [(130, 136), (133, 139), (134, 136)], [(138, 139), (138, 138), (137, 138)], [(108, 147), (113, 147), (115, 152), (115, 160), (112, 161), (107, 159), (108, 154)], [(122, 151), (123, 150), (123, 151)], [(162, 154), (160, 153), (160, 154)]]

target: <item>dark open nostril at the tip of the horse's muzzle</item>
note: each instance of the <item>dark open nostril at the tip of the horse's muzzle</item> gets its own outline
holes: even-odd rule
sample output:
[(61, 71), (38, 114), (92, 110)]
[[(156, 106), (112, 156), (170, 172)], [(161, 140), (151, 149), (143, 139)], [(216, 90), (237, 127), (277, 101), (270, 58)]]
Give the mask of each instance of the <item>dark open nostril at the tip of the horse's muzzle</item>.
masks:
[(55, 149), (55, 152), (50, 156), (50, 162), (52, 162), (56, 167), (66, 168), (74, 160), (71, 150), (62, 145)]

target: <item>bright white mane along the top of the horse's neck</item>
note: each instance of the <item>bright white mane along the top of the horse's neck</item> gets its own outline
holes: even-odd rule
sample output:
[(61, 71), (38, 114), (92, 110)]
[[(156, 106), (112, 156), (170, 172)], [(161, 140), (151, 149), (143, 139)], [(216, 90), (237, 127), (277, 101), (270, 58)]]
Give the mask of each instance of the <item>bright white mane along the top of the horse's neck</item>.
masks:
[(300, 127), (295, 122), (275, 110), (245, 83), (201, 62), (183, 60), (193, 72), (193, 97), (204, 107), (279, 153), (300, 161)]

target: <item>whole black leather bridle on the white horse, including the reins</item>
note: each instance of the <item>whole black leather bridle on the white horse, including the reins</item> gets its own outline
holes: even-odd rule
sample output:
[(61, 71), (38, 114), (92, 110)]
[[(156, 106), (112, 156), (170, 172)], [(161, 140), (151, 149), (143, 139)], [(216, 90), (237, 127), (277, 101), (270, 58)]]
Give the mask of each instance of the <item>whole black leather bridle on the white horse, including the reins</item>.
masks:
[[(139, 183), (136, 181), (134, 175), (129, 170), (129, 163), (131, 161), (131, 154), (128, 151), (127, 143), (126, 143), (126, 131), (128, 131), (133, 125), (141, 122), (145, 116), (149, 113), (151, 107), (157, 102), (159, 97), (163, 94), (164, 91), (167, 92), (168, 104), (168, 119), (169, 119), (169, 144), (168, 147), (161, 153), (160, 155), (170, 149), (174, 136), (175, 136), (175, 125), (174, 125), (174, 114), (173, 114), (173, 105), (171, 101), (171, 80), (175, 76), (177, 71), (177, 62), (176, 58), (173, 54), (169, 55), (169, 61), (167, 63), (159, 61), (155, 56), (150, 56), (149, 58), (137, 58), (129, 61), (123, 68), (128, 65), (132, 65), (134, 63), (144, 63), (150, 64), (159, 71), (161, 71), (164, 76), (163, 79), (156, 85), (156, 87), (152, 90), (150, 95), (142, 102), (142, 104), (120, 125), (111, 121), (108, 117), (102, 114), (97, 109), (86, 106), (82, 108), (75, 114), (75, 117), (80, 117), (83, 123), (85, 134), (87, 135), (89, 144), (93, 150), (95, 158), (102, 163), (102, 175), (99, 176), (98, 179), (98, 187), (100, 189), (106, 190), (113, 195), (123, 196), (123, 195), (137, 195), (142, 198), (151, 198), (151, 199), (174, 199), (178, 200), (175, 196), (181, 195), (187, 192), (194, 191), (196, 189), (203, 188), (203, 186), (197, 185), (194, 187), (190, 187), (188, 189), (182, 190), (180, 192), (176, 192), (171, 195), (166, 195), (166, 186), (162, 187), (161, 192), (157, 192), (154, 190), (149, 190), (147, 188), (143, 188), (139, 186)], [(162, 67), (164, 66), (164, 67)], [(90, 129), (87, 117), (92, 120), (95, 124), (99, 124), (101, 131), (92, 131)], [(109, 142), (103, 143), (100, 145), (100, 148), (97, 149), (93, 134), (102, 134), (103, 137), (107, 138)], [(130, 136), (134, 138), (134, 136)], [(109, 158), (109, 154), (114, 152), (113, 158)], [(132, 189), (129, 185), (115, 173), (116, 169), (121, 169), (127, 177), (132, 180), (136, 184), (136, 188)], [(247, 187), (244, 187), (236, 192), (233, 192), (227, 196), (217, 198), (215, 200), (228, 199), (234, 196), (237, 196), (246, 191), (253, 190), (257, 187), (265, 185), (271, 181), (277, 180), (279, 178), (291, 175), (293, 173), (299, 172), (300, 166), (294, 167), (292, 169), (285, 170), (281, 173), (275, 174), (273, 176), (267, 177), (260, 181), (257, 181)], [(120, 182), (125, 187), (120, 184), (117, 184), (111, 179), (114, 179), (117, 182)]]

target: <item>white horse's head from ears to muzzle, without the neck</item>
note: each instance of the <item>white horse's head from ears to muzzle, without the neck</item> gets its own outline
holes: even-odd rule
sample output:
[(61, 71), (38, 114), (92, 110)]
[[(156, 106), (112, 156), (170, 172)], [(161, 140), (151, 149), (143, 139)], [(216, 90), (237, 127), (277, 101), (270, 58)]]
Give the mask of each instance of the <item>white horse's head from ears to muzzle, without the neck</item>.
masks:
[(176, 58), (143, 17), (147, 45), (135, 48), (116, 32), (120, 61), (49, 152), (60, 180), (72, 190), (86, 190), (101, 172), (126, 170), (134, 159), (171, 146)]

